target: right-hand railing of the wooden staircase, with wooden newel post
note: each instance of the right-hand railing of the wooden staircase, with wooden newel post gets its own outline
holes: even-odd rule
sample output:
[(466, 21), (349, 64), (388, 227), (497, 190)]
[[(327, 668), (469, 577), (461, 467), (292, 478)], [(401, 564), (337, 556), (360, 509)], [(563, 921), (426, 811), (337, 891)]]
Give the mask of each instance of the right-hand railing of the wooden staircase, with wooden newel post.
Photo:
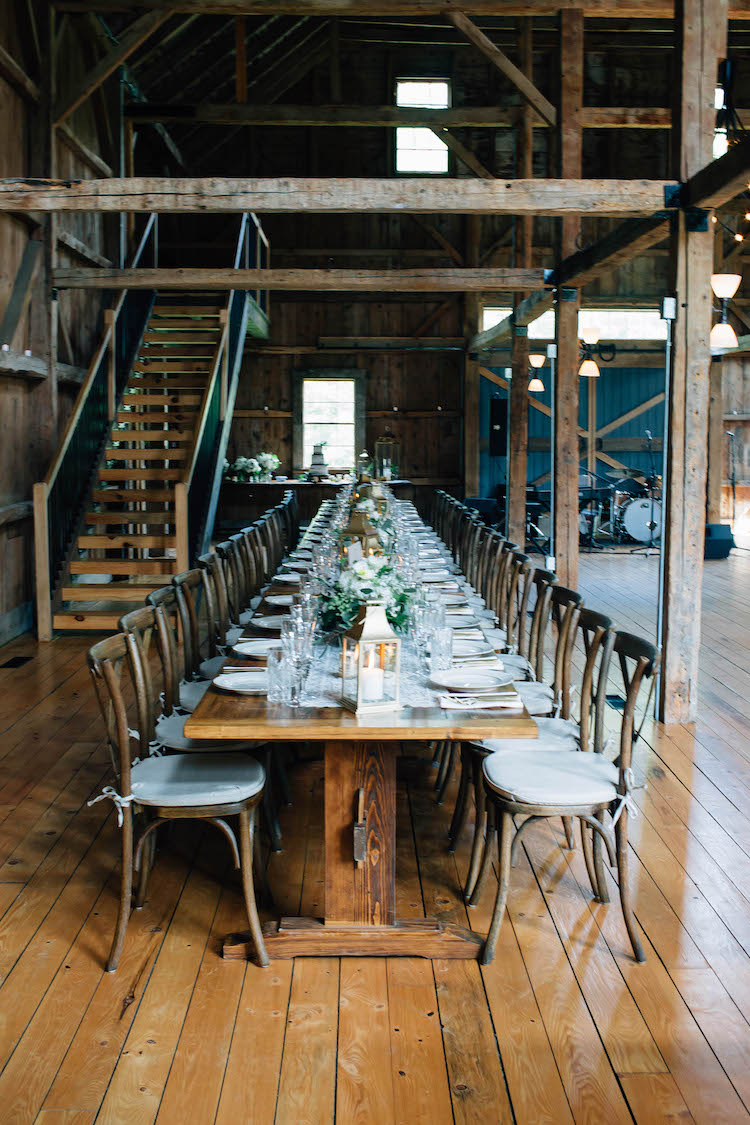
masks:
[[(235, 270), (243, 267), (249, 251), (252, 252), (250, 240), (253, 227), (255, 232), (260, 231), (255, 216), (243, 215), (234, 258)], [(255, 237), (259, 237), (257, 233)], [(178, 570), (187, 570), (210, 544), (247, 334), (249, 309), (249, 294), (233, 289), (222, 313), (224, 331), (200, 405), (192, 458), (174, 488)]]

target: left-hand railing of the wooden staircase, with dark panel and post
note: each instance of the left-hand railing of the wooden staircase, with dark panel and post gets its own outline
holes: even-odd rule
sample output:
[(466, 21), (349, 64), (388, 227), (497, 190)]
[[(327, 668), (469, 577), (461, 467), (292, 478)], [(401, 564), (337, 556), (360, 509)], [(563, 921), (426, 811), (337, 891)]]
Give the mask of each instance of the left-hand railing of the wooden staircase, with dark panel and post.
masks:
[[(156, 253), (156, 215), (150, 215), (129, 266), (146, 245)], [(93, 353), (54, 461), (34, 485), (36, 614), (39, 640), (52, 638), (52, 605), (83, 506), (106, 448), (117, 404), (143, 341), (152, 290), (126, 289), (105, 312), (105, 333)]]

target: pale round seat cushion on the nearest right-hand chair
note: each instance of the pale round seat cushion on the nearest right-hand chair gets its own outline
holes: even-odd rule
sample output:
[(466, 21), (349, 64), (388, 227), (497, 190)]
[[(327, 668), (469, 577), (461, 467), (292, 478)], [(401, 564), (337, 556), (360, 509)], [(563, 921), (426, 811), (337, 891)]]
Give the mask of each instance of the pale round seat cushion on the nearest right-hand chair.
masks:
[(484, 762), (490, 788), (525, 804), (576, 806), (614, 801), (620, 771), (600, 754), (542, 750), (490, 754)]

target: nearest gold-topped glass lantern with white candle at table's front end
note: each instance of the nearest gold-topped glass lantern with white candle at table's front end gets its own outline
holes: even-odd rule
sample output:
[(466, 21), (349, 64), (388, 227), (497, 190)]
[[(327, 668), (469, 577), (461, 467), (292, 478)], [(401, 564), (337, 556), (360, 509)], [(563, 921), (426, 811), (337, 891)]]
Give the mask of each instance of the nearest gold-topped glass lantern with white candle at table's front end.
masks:
[(360, 714), (400, 708), (400, 650), (385, 604), (360, 605), (356, 621), (343, 636), (341, 702), (347, 711)]

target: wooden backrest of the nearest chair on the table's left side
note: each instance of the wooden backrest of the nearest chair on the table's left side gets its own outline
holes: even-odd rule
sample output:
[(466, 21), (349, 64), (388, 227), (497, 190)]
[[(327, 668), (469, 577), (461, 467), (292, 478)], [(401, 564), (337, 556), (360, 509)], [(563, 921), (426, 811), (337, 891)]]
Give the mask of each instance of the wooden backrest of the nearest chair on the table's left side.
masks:
[[(143, 684), (143, 670), (133, 633), (117, 633), (97, 641), (87, 652), (93, 690), (107, 731), (107, 745), (121, 796), (130, 792), (130, 768), (136, 757), (148, 753), (153, 730)], [(128, 683), (124, 684), (124, 677)], [(134, 694), (135, 719), (128, 716), (128, 696)], [(137, 730), (133, 749), (132, 731)]]

